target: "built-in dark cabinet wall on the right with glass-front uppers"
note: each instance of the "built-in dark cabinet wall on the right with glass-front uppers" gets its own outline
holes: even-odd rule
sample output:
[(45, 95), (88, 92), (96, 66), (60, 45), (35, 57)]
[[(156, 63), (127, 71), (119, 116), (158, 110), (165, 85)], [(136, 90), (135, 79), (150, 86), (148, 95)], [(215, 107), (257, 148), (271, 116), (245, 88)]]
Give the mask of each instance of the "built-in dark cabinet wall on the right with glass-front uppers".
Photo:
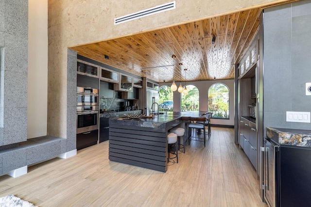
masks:
[(260, 66), (259, 32), (250, 48), (236, 68), (237, 105), (236, 142), (257, 171), (259, 178), (259, 66)]

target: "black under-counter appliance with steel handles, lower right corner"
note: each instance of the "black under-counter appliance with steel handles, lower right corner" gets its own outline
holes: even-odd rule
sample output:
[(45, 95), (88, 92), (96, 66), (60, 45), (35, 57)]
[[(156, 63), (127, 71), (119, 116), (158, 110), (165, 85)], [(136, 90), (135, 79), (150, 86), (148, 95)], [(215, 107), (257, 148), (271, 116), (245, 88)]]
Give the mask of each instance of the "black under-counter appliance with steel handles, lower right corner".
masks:
[(311, 148), (264, 139), (264, 199), (270, 207), (311, 206)]

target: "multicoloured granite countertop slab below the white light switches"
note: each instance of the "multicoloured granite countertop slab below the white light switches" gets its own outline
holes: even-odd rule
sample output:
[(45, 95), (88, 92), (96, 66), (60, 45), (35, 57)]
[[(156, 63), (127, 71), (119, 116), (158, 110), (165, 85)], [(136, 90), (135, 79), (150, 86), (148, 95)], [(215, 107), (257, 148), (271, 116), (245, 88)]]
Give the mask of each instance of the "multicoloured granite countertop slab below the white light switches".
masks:
[(267, 127), (267, 137), (279, 144), (311, 147), (311, 130)]

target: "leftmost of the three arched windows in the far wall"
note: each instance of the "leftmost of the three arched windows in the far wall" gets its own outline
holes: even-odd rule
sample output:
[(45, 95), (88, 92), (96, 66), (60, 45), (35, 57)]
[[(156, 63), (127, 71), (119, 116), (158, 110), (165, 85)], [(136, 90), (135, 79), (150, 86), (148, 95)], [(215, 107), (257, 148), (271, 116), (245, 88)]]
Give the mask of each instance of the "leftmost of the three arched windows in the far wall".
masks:
[(167, 85), (159, 88), (159, 111), (173, 111), (173, 91)]

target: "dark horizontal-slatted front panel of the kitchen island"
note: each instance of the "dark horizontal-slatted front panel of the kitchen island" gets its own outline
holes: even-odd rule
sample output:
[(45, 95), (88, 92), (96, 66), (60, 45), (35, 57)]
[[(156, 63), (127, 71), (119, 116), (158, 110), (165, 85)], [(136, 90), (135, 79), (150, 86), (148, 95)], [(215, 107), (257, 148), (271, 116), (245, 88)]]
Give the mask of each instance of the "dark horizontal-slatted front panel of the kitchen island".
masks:
[(109, 160), (167, 171), (167, 132), (163, 128), (109, 126)]

